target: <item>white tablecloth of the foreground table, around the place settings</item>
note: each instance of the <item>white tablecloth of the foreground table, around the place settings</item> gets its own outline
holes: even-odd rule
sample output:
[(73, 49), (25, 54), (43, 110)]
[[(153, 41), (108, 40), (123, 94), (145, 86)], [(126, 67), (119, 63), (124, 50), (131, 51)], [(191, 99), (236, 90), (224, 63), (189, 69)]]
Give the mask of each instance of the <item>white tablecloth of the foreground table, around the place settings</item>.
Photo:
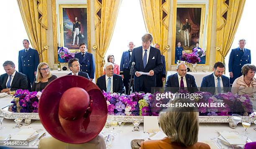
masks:
[[(24, 120), (23, 120), (24, 123)], [(3, 126), (6, 127), (6, 129), (3, 129), (1, 132), (0, 130), (0, 140), (3, 140), (8, 137), (9, 134), (15, 134), (20, 131), (20, 129), (15, 129), (13, 126), (15, 126), (15, 122), (13, 119), (4, 119), (3, 120)], [(40, 120), (32, 120), (31, 124), (29, 126), (22, 126), (21, 129), (28, 129), (28, 127), (32, 127), (33, 129), (38, 129), (39, 136), (43, 134), (45, 131), (44, 127), (42, 126)], [(253, 127), (255, 125), (252, 123), (251, 127), (248, 128), (248, 137), (255, 142), (256, 141), (256, 131), (253, 130)], [(118, 129), (118, 127), (116, 127)], [(140, 124), (140, 132), (132, 132), (133, 124), (132, 123), (125, 123), (124, 126), (121, 126), (121, 129), (123, 130), (123, 133), (119, 134), (117, 133), (117, 136), (115, 136), (115, 139), (113, 141), (113, 147), (112, 149), (131, 149), (131, 140), (133, 139), (145, 139), (148, 137), (148, 133), (143, 133), (143, 123)], [(237, 131), (239, 134), (243, 135), (244, 129), (241, 123), (238, 124), (236, 129), (231, 129), (228, 125), (228, 123), (200, 123), (200, 129), (199, 129), (199, 136), (198, 141), (202, 142), (204, 140), (210, 141), (211, 138), (218, 137), (217, 131)], [(105, 128), (103, 131), (107, 131)], [(50, 136), (46, 132), (46, 136)], [(39, 137), (38, 136), (38, 137)], [(32, 147), (31, 144), (36, 140), (32, 140), (29, 142), (29, 147), (19, 147), (19, 148), (37, 148), (36, 146)], [(222, 144), (225, 149), (228, 148), (228, 146)]]

